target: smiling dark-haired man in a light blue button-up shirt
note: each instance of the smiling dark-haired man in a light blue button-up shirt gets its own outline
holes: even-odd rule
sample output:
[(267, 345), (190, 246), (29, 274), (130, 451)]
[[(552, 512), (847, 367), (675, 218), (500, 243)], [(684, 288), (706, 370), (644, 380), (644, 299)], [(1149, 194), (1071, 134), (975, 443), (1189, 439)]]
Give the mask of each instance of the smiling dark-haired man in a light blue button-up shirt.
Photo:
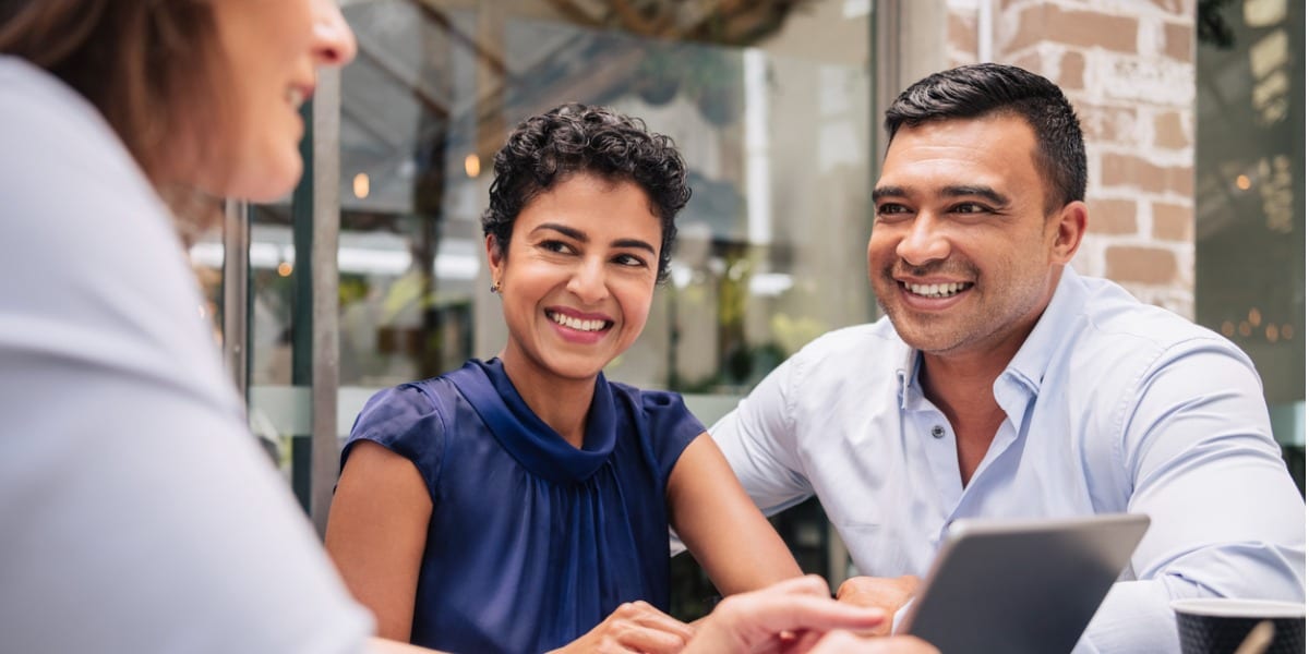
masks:
[(817, 496), (903, 608), (957, 518), (1144, 513), (1079, 651), (1177, 651), (1169, 600), (1304, 599), (1305, 506), (1250, 360), (1077, 275), (1081, 128), (1058, 86), (979, 64), (886, 111), (868, 275), (886, 318), (827, 334), (711, 433), (768, 513)]

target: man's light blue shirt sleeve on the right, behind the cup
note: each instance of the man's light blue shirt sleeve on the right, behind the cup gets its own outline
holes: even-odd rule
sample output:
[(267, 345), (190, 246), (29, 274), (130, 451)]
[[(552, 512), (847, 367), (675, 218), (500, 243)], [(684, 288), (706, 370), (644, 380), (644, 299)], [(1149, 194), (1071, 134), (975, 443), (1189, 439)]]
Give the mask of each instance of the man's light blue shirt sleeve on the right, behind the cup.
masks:
[(1233, 345), (1165, 351), (1128, 388), (1122, 463), (1128, 510), (1151, 517), (1079, 651), (1178, 651), (1169, 602), (1304, 600), (1305, 505), (1272, 439), (1258, 374)]

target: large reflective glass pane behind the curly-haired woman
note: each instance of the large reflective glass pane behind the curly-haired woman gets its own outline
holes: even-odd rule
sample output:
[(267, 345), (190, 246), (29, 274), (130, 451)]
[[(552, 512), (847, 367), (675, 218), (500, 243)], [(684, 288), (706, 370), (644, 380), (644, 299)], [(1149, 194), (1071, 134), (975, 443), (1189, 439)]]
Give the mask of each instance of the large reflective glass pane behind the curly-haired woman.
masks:
[(873, 315), (863, 285), (819, 283), (863, 276), (863, 60), (651, 39), (547, 4), (488, 16), (373, 1), (347, 17), (360, 56), (343, 76), (343, 385), (495, 354), (499, 306), (478, 292), (488, 162), (508, 127), (569, 101), (641, 116), (691, 170), (672, 283), (613, 378), (740, 394), (810, 337)]

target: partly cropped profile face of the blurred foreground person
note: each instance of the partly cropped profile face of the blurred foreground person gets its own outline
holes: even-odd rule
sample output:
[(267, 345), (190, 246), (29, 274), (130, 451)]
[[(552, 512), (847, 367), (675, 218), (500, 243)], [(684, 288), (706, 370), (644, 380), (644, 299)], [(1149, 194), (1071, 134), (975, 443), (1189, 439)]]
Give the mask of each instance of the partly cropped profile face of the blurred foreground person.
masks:
[[(230, 84), (216, 98), (225, 129), (195, 126), (198, 179), (212, 195), (267, 201), (300, 179), (300, 105), (317, 68), (344, 65), (355, 35), (335, 0), (215, 0), (219, 65)], [(221, 156), (217, 156), (221, 153)]]

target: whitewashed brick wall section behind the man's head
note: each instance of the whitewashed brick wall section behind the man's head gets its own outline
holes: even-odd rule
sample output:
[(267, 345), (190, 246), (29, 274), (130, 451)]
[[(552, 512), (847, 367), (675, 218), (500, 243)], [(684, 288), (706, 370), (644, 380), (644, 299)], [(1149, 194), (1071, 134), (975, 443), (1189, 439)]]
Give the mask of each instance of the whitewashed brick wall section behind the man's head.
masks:
[(1192, 318), (1195, 1), (948, 0), (945, 14), (946, 65), (990, 54), (1077, 109), (1090, 221), (1073, 267)]

